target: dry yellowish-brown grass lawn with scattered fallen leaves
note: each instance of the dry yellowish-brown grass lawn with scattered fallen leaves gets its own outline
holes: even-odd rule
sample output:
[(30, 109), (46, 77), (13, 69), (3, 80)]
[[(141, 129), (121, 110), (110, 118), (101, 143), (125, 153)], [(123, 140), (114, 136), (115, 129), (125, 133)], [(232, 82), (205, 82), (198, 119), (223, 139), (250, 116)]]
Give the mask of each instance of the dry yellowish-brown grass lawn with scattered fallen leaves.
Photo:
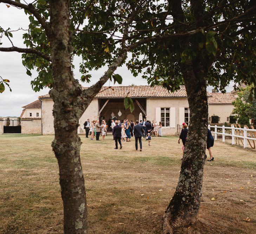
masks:
[[(150, 147), (143, 141), (142, 152), (135, 151), (133, 138), (122, 150), (114, 149), (112, 135), (100, 142), (81, 139), (89, 233), (162, 233), (179, 178), (178, 138), (153, 138)], [(0, 233), (63, 233), (52, 140), (52, 135), (0, 135)], [(212, 151), (199, 221), (176, 233), (256, 233), (256, 151), (221, 141)]]

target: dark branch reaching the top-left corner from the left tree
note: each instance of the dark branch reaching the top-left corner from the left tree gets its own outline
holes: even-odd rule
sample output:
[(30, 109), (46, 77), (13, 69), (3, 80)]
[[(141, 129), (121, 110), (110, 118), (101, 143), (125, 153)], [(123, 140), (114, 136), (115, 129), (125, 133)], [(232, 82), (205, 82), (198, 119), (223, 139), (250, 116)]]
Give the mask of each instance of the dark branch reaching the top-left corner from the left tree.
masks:
[(46, 22), (45, 19), (42, 18), (40, 13), (37, 11), (37, 9), (35, 9), (35, 7), (32, 4), (26, 5), (26, 4), (22, 4), (20, 2), (15, 2), (15, 1), (12, 1), (12, 0), (0, 0), (0, 2), (10, 4), (10, 5), (15, 6), (15, 7), (20, 7), (22, 9), (25, 9), (25, 10), (31, 12), (35, 16), (35, 18), (37, 18), (38, 22), (42, 25), (42, 27), (45, 29), (46, 35), (51, 34), (50, 27), (49, 27), (48, 23)]

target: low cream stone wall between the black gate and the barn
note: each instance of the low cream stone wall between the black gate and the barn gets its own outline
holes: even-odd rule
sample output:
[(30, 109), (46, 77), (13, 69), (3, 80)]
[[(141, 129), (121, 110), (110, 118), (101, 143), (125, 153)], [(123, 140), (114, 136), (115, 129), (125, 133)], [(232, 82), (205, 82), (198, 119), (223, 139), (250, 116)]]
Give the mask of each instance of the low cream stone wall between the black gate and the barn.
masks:
[(41, 134), (41, 118), (22, 118), (21, 134)]

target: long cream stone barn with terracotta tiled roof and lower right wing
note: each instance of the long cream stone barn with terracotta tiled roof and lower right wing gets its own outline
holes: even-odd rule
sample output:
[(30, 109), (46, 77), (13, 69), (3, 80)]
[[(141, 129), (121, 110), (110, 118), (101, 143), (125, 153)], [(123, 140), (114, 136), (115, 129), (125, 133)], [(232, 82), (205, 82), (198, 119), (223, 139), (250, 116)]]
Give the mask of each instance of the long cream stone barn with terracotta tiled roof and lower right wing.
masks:
[[(86, 89), (86, 88), (84, 88)], [(124, 98), (130, 96), (135, 109), (131, 113), (124, 108)], [(39, 96), (41, 106), (42, 134), (54, 134), (53, 127), (53, 100), (50, 94)], [(219, 122), (229, 122), (232, 101), (235, 97), (232, 93), (208, 93), (209, 117), (219, 116)], [(118, 116), (118, 112), (122, 115)], [(100, 92), (92, 100), (86, 111), (81, 116), (78, 132), (83, 129), (83, 123), (87, 120), (97, 120), (100, 117), (109, 120), (111, 114), (120, 120), (138, 120), (139, 114), (146, 116), (147, 120), (154, 120), (163, 125), (164, 135), (174, 135), (183, 122), (189, 123), (190, 113), (185, 86), (180, 86), (178, 91), (168, 92), (162, 86), (112, 86), (102, 87)], [(112, 115), (113, 115), (112, 114)]]

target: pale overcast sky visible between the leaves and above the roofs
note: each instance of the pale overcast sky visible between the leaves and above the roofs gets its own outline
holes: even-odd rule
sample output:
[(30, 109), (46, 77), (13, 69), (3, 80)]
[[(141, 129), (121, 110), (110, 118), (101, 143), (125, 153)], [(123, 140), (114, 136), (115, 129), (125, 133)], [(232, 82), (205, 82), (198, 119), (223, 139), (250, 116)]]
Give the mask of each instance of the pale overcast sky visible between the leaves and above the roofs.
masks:
[[(28, 16), (25, 15), (23, 10), (15, 7), (7, 8), (6, 4), (0, 3), (0, 26), (4, 29), (8, 27), (12, 30), (18, 28), (28, 28)], [(25, 48), (23, 44), (22, 34), (24, 32), (13, 32), (13, 44), (17, 47)], [(2, 47), (10, 47), (11, 43), (6, 38), (2, 38)], [(82, 74), (79, 72), (79, 63), (81, 59), (74, 58), (74, 77), (79, 79)], [(101, 75), (106, 71), (106, 67), (99, 69), (98, 71), (91, 72), (92, 79), (89, 84), (83, 83), (84, 86), (89, 86), (98, 81)], [(123, 78), (122, 85), (147, 85), (147, 81), (140, 76), (134, 78), (128, 69), (123, 66), (119, 67), (116, 71)], [(12, 92), (6, 88), (5, 92), (0, 94), (0, 116), (20, 116), (22, 106), (25, 106), (35, 100), (38, 96), (44, 95), (49, 92), (49, 89), (43, 89), (40, 92), (34, 92), (31, 88), (30, 81), (36, 77), (36, 73), (33, 73), (32, 78), (26, 74), (26, 68), (22, 65), (21, 53), (18, 52), (0, 52), (0, 76), (3, 79), (10, 80), (10, 86)], [(107, 81), (105, 86), (113, 85), (112, 82)], [(232, 84), (233, 85), (233, 84)], [(230, 85), (227, 87), (227, 92), (230, 92), (233, 87)], [(208, 91), (211, 91), (212, 87), (208, 87)]]

